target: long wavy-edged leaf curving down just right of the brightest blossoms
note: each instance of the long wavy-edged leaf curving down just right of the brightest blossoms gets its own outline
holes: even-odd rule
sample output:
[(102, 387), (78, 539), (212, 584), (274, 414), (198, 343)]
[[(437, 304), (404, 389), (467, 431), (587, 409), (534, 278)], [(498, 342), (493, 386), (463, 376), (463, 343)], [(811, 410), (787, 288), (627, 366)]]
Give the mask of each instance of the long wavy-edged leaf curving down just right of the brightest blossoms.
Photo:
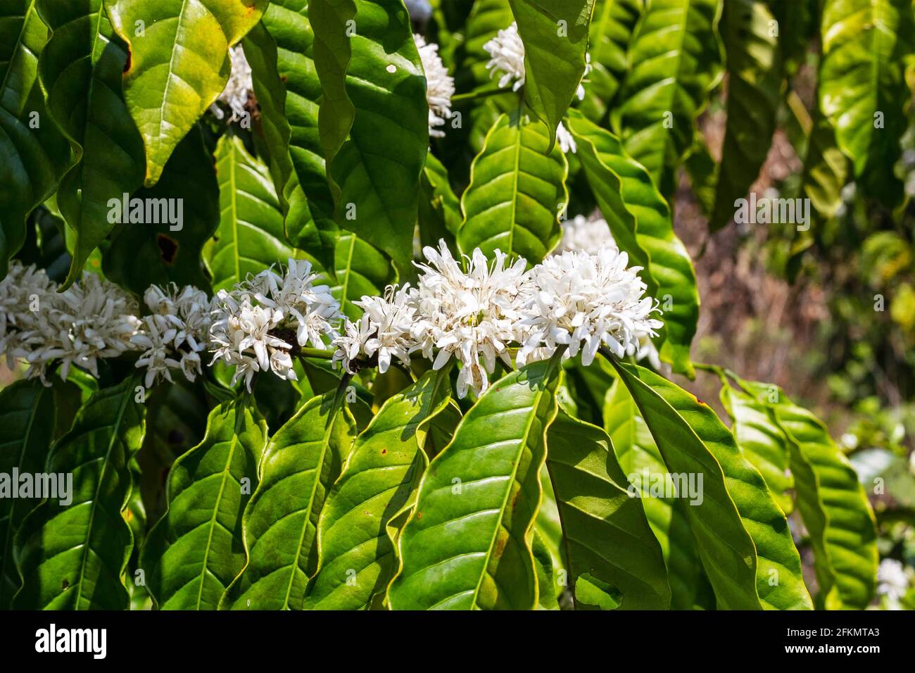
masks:
[[(578, 157), (601, 212), (611, 223), (610, 231), (620, 249), (630, 254), (631, 264), (644, 265), (651, 276), (652, 282), (646, 284), (656, 292), (663, 309), (661, 357), (673, 364), (678, 374), (692, 377), (689, 353), (699, 320), (699, 290), (690, 255), (673, 232), (671, 209), (646, 169), (626, 153), (619, 138), (576, 112), (570, 114), (569, 126), (580, 138)], [(635, 241), (631, 225), (619, 215), (620, 197), (622, 206), (635, 218)], [(612, 209), (611, 214), (605, 207)]]

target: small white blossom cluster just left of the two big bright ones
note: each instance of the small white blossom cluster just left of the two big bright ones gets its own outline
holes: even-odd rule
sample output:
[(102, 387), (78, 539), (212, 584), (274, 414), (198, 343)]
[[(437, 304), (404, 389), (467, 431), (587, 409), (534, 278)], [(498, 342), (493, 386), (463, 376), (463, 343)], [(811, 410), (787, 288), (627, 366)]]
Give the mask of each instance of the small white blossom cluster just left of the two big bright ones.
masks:
[(410, 353), (416, 347), (411, 335), (416, 321), (415, 294), (409, 284), (388, 286), (383, 297), (354, 301), (364, 312), (360, 320), (347, 320), (344, 334), (334, 340), (334, 362), (342, 362), (350, 374), (359, 371), (352, 366), (354, 361), (373, 357), (377, 357), (382, 374), (388, 371), (393, 357), (409, 366)]

